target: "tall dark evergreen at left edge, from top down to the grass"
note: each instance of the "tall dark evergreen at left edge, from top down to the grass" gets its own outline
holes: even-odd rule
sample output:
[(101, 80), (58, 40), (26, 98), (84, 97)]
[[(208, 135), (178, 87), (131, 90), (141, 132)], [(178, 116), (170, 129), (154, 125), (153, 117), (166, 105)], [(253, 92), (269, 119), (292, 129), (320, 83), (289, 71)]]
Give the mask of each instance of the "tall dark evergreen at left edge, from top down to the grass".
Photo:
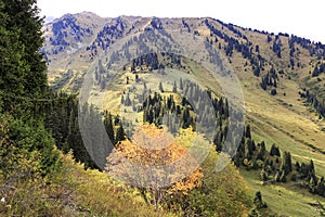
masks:
[[(48, 112), (51, 103), (50, 99), (44, 99), (50, 92), (47, 65), (43, 54), (39, 52), (43, 46), (43, 18), (38, 13), (36, 0), (0, 1), (0, 110), (4, 113), (10, 111), (13, 115), (8, 120), (10, 146), (3, 149), (1, 145), (0, 150), (0, 169), (2, 166), (13, 166), (11, 169), (18, 174), (13, 179), (21, 176), (21, 166), (24, 165), (20, 164), (23, 162), (27, 166), (31, 159), (40, 166), (42, 175), (57, 169), (60, 162), (55, 142), (43, 123), (43, 112)], [(68, 120), (68, 116), (66, 118)], [(3, 120), (2, 114), (0, 119)], [(68, 133), (67, 128), (65, 133)], [(15, 166), (4, 161), (5, 156), (11, 155)], [(39, 173), (34, 170), (32, 165), (28, 166), (30, 170), (27, 174)], [(10, 178), (9, 173), (4, 174)]]

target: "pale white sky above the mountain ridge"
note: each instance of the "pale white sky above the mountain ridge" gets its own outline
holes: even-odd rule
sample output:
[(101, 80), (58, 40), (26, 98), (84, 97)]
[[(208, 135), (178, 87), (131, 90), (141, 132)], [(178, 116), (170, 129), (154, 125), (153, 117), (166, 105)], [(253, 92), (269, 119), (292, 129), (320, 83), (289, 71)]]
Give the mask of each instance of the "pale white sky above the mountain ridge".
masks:
[(288, 33), (325, 43), (324, 0), (38, 0), (41, 15), (93, 12), (102, 17), (210, 16), (238, 26)]

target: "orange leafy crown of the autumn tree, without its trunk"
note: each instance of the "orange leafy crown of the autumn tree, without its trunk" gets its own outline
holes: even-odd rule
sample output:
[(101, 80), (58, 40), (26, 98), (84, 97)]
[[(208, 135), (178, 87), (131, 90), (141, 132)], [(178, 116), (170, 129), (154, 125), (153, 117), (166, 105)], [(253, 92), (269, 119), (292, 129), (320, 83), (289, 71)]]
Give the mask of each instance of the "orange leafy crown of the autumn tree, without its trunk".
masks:
[[(187, 137), (193, 137), (194, 132), (191, 133), (192, 135), (186, 132)], [(106, 170), (113, 174), (123, 173), (123, 178), (126, 176), (132, 176), (130, 174), (135, 171), (139, 176), (139, 179), (135, 180), (136, 184), (143, 186), (143, 183), (139, 182), (145, 179), (145, 177), (143, 178), (141, 176), (146, 176), (146, 174), (142, 174), (141, 168), (130, 167), (128, 165), (129, 162), (142, 166), (164, 166), (177, 162), (177, 166), (172, 167), (168, 173), (155, 167), (152, 174), (153, 176), (157, 176), (157, 182), (159, 179), (168, 180), (170, 177), (182, 175), (179, 176), (183, 177), (181, 180), (177, 180), (178, 182), (173, 184), (170, 183), (172, 187), (169, 189), (164, 188), (168, 194), (179, 191), (185, 193), (196, 187), (200, 187), (200, 179), (203, 177), (202, 168), (191, 154), (186, 154), (187, 150), (188, 148), (185, 146), (181, 140), (176, 140), (166, 129), (159, 129), (155, 125), (144, 124), (141, 128), (135, 130), (132, 141), (127, 139), (116, 144), (114, 152), (107, 157)], [(126, 161), (128, 162), (126, 163)], [(132, 168), (135, 169), (132, 170)], [(194, 171), (188, 174), (191, 169)], [(166, 175), (168, 175), (168, 177), (166, 177)], [(121, 177), (121, 174), (117, 177)], [(170, 180), (172, 180), (172, 178), (170, 178)], [(134, 182), (134, 177), (132, 177), (131, 181)], [(161, 190), (159, 183), (150, 182), (148, 189), (155, 189), (156, 191), (157, 188)]]

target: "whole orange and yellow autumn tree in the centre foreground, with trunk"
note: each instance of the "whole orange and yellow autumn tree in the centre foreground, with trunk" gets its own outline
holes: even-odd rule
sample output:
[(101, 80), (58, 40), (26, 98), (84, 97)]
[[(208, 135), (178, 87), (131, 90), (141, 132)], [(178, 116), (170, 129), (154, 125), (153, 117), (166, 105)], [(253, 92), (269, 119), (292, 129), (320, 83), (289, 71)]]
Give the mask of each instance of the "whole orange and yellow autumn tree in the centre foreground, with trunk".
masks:
[[(105, 169), (140, 189), (147, 202), (161, 205), (167, 195), (187, 194), (202, 184), (202, 167), (188, 150), (204, 142), (191, 128), (173, 138), (166, 128), (144, 124), (129, 139), (118, 142)], [(207, 144), (208, 142), (206, 142)], [(197, 144), (202, 145), (202, 144)], [(202, 145), (204, 148), (204, 145)]]

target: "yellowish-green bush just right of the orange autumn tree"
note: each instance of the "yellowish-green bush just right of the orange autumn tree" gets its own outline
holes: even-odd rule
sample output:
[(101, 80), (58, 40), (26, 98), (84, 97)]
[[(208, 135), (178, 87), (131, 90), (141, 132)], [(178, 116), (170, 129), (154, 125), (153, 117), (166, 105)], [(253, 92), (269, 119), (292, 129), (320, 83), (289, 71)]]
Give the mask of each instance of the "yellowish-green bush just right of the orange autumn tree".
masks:
[(217, 173), (218, 154), (211, 150), (202, 165), (203, 184), (187, 196), (170, 199), (186, 216), (245, 216), (251, 206), (248, 187), (233, 165)]

